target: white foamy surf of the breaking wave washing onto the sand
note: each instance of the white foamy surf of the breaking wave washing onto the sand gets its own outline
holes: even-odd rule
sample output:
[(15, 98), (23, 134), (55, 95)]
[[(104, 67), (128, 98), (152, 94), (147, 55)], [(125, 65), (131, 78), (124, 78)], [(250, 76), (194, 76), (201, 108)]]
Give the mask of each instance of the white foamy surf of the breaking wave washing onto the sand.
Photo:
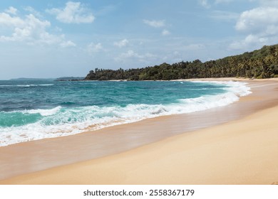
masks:
[(227, 87), (223, 88), (226, 92), (219, 95), (203, 95), (202, 97), (179, 99), (178, 102), (172, 104), (128, 104), (126, 106), (114, 105), (109, 107), (57, 106), (52, 109), (16, 111), (23, 114), (26, 119), (37, 116), (36, 122), (0, 127), (0, 146), (56, 136), (68, 136), (83, 131), (138, 122), (142, 119), (163, 115), (187, 114), (213, 107), (222, 107), (236, 102), (240, 97), (251, 93), (250, 88), (243, 82), (207, 83), (226, 85)]

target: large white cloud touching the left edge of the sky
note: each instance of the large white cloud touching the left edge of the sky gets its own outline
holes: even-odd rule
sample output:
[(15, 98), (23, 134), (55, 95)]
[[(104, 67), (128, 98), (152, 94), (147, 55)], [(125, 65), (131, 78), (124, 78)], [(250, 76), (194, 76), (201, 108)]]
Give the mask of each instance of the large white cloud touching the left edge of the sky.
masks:
[(21, 41), (29, 45), (34, 45), (35, 43), (51, 45), (67, 42), (64, 36), (56, 36), (48, 33), (46, 29), (51, 27), (51, 23), (36, 18), (33, 14), (19, 17), (11, 16), (6, 11), (6, 13), (0, 13), (0, 25), (9, 30), (9, 33), (6, 33), (6, 35), (0, 35), (1, 42)]

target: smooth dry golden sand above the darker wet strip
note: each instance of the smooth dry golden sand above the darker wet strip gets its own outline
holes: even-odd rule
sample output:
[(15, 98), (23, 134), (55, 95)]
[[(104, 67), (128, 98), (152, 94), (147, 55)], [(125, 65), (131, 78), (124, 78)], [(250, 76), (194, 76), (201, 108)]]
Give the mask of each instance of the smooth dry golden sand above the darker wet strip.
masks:
[(278, 107), (112, 156), (10, 178), (5, 184), (272, 184)]

